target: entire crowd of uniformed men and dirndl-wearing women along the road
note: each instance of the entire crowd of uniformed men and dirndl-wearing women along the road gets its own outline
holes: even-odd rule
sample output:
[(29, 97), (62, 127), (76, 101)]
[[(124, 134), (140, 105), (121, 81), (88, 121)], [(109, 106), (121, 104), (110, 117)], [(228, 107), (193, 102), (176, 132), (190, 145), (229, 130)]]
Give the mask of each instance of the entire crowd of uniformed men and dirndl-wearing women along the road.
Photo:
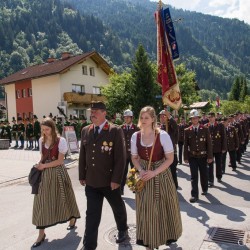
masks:
[(137, 244), (157, 249), (178, 241), (182, 234), (178, 168), (183, 164), (190, 167), (189, 201), (198, 202), (199, 194), (212, 192), (215, 181), (222, 182), (230, 167), (237, 171), (249, 142), (250, 116), (240, 111), (227, 117), (219, 112), (202, 113), (201, 117), (193, 109), (186, 120), (172, 116), (168, 108), (156, 114), (154, 108), (147, 106), (141, 109), (138, 123), (130, 109), (122, 116), (123, 124), (115, 124), (107, 119), (106, 105), (93, 102), (90, 123), (85, 116), (70, 116), (63, 123), (51, 113), (40, 121), (36, 115), (25, 120), (13, 117), (12, 126), (1, 121), (0, 137), (9, 139), (10, 145), (15, 142), (14, 149), (41, 152), (37, 169), (42, 175), (33, 207), (33, 224), (39, 235), (33, 248), (44, 242), (45, 228), (68, 221), (67, 229), (71, 230), (80, 218), (71, 181), (63, 167), (68, 149), (62, 137), (64, 126), (73, 126), (80, 140), (79, 181), (85, 187), (87, 200), (83, 250), (98, 246), (104, 198), (114, 214), (116, 243), (128, 239), (122, 197), (131, 169), (144, 183), (142, 190), (135, 192)]

